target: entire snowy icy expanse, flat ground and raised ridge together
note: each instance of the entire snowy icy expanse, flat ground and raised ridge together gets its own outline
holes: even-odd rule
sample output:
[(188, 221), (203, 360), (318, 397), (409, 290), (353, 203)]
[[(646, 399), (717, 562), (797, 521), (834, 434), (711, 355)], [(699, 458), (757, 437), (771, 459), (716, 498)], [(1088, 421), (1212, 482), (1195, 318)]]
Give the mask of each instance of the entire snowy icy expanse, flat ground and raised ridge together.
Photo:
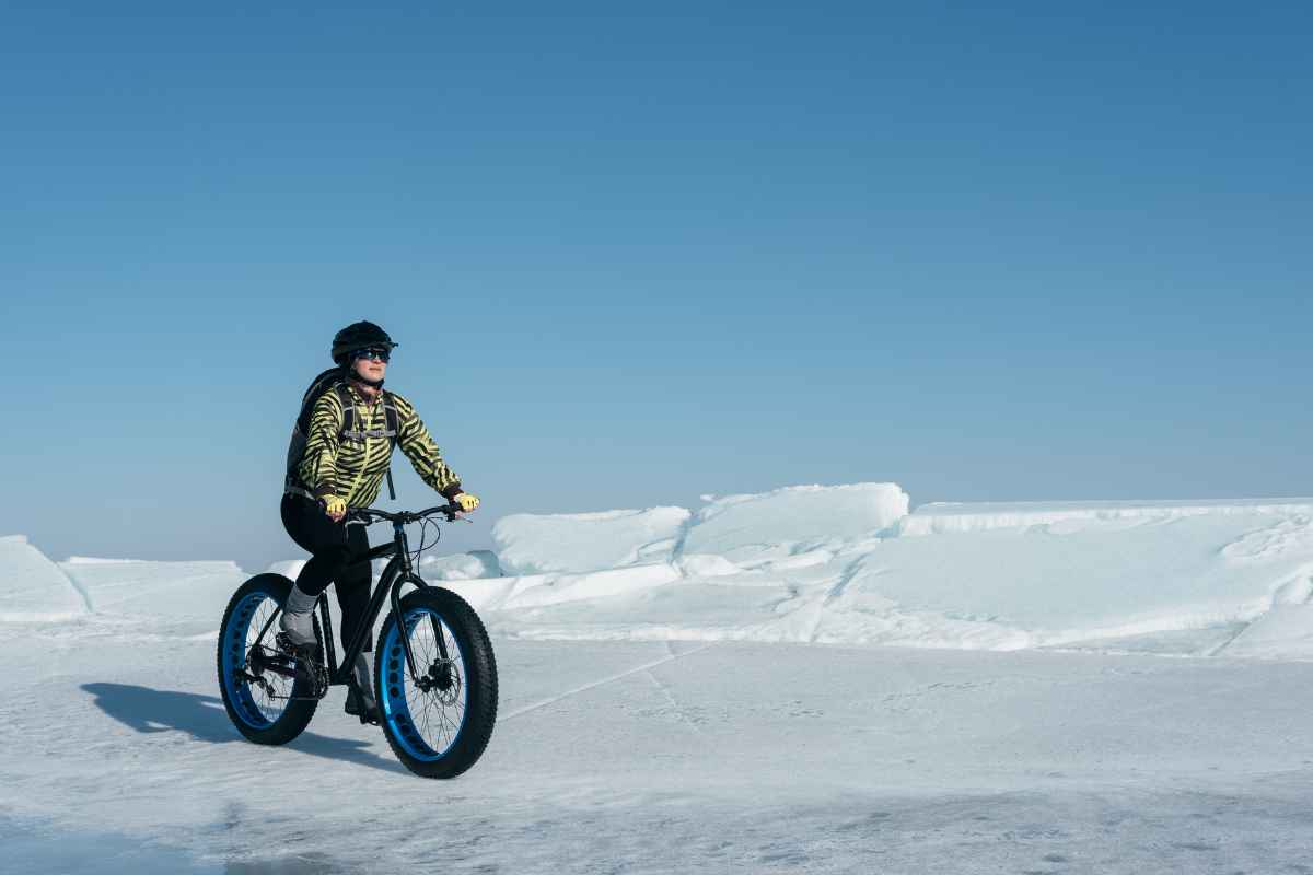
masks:
[(484, 758), (435, 784), (339, 690), (285, 748), (240, 739), (213, 662), (236, 564), (0, 538), (18, 871), (56, 842), (113, 871), (67, 850), (106, 836), (159, 871), (1276, 872), (1313, 846), (1313, 500), (809, 485), (517, 514), (494, 546), (418, 565), (502, 677)]

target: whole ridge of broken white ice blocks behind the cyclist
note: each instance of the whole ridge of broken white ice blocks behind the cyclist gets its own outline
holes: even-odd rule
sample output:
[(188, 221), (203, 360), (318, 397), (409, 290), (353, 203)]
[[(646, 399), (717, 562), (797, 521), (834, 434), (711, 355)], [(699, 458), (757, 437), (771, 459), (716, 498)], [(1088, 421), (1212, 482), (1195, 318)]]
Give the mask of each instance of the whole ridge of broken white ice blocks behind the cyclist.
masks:
[[(696, 514), (521, 514), (498, 523), (500, 556), (425, 556), (420, 573), (490, 628), (533, 639), (1310, 655), (1306, 500), (907, 504), (895, 484), (853, 484), (712, 499)], [(28, 614), (81, 605), (214, 628), (244, 579), (231, 563), (60, 569), (4, 543), (9, 580), (20, 555), (45, 569)], [(274, 571), (294, 580), (301, 564)]]

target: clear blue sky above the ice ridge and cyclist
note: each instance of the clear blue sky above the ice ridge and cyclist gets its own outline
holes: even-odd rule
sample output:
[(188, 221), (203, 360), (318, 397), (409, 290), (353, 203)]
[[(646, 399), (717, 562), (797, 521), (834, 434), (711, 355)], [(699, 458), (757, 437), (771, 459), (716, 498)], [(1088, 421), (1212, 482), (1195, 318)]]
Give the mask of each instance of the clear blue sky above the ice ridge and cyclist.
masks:
[(800, 483), (1313, 493), (1308, 4), (277, 5), (0, 4), (0, 533), (297, 555), (357, 319), (484, 499), (452, 547)]

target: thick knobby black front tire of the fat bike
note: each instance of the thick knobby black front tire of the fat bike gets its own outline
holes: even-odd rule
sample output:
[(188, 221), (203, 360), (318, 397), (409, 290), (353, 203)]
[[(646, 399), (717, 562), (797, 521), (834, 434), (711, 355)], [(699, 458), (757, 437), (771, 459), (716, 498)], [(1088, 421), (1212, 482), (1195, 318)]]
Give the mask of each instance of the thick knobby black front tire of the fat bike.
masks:
[[(498, 707), (496, 657), (492, 653), (492, 641), (483, 627), (483, 621), (474, 613), (469, 602), (452, 590), (441, 586), (425, 586), (400, 600), (402, 617), (410, 615), (416, 609), (436, 614), (450, 631), (461, 651), (466, 690), (465, 718), (456, 740), (439, 758), (419, 758), (407, 750), (407, 745), (399, 737), (397, 720), (390, 719), (385, 708), (389, 699), (386, 685), (390, 674), (393, 674), (394, 683), (397, 681), (406, 686), (411, 683), (406, 669), (404, 651), (389, 653), (387, 649), (393, 630), (400, 621), (394, 610), (383, 621), (382, 632), (378, 636), (379, 652), (374, 660), (374, 701), (378, 702), (379, 724), (393, 753), (412, 773), (421, 778), (454, 778), (478, 762), (492, 739)], [(395, 674), (398, 669), (399, 676)], [(394, 686), (390, 691), (394, 701), (397, 689)], [(404, 698), (404, 689), (400, 694)]]

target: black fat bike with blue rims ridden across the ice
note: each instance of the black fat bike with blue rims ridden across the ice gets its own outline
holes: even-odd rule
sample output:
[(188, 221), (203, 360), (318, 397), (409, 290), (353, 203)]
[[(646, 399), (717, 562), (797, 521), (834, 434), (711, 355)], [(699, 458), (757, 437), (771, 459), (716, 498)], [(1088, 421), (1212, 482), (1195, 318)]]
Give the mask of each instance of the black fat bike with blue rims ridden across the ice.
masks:
[[(291, 648), (276, 622), (291, 592), (282, 575), (256, 575), (232, 594), (219, 626), (218, 674), (223, 707), (238, 731), (256, 744), (286, 744), (301, 735), (330, 687), (344, 685), (374, 628), (390, 605), (374, 659), (374, 701), (379, 725), (397, 758), (423, 778), (454, 778), (487, 748), (496, 723), (496, 659), (483, 622), (456, 593), (425, 584), (415, 571), (406, 538), (410, 523), (456, 519), (458, 505), (390, 513), (352, 510), (348, 519), (393, 523), (393, 540), (361, 561), (391, 556), (360, 624), (339, 662), (328, 600), (319, 597), (316, 644)], [(403, 588), (414, 586), (406, 594)]]

